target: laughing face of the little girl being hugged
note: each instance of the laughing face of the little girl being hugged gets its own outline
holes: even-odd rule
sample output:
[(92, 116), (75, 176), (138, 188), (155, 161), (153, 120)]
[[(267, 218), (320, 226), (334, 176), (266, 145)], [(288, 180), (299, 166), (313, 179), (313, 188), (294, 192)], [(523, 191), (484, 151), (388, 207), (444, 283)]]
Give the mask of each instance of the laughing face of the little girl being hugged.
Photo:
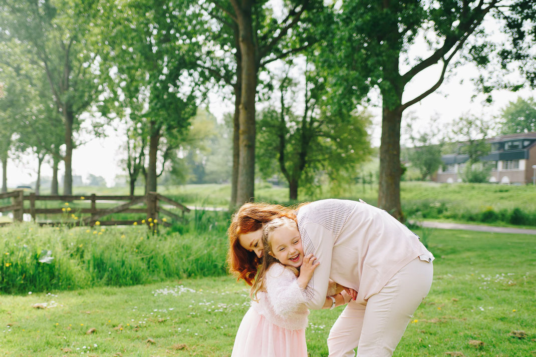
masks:
[(281, 264), (300, 267), (303, 263), (303, 248), (300, 232), (296, 228), (281, 227), (270, 232), (270, 255)]

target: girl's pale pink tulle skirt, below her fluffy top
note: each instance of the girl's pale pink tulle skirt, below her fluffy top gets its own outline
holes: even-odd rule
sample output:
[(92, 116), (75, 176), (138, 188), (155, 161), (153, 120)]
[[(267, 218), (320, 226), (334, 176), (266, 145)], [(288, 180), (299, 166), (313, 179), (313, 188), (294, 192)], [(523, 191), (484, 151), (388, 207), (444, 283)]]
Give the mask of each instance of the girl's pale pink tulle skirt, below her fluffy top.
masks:
[(305, 329), (280, 328), (250, 307), (236, 333), (231, 357), (307, 357)]

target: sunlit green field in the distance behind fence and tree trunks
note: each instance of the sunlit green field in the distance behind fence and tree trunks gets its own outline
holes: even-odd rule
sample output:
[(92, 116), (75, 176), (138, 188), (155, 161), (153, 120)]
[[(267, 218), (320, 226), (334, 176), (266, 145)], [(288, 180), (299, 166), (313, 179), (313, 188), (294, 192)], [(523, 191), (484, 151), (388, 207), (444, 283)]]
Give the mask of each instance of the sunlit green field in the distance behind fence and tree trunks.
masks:
[[(410, 219), (440, 219), (460, 222), (482, 222), (495, 225), (536, 226), (536, 187), (532, 185), (498, 185), (435, 182), (401, 182), (403, 211)], [(75, 187), (76, 195), (125, 195), (127, 188)], [(178, 202), (196, 207), (229, 205), (230, 185), (191, 184), (162, 186), (158, 191)], [(143, 188), (136, 188), (143, 195)], [(293, 204), (288, 200), (288, 188), (272, 187), (268, 183), (256, 185), (256, 200)], [(322, 198), (363, 199), (377, 204), (377, 184), (354, 184), (345, 188), (323, 187), (314, 192), (300, 191), (299, 202)], [(3, 204), (7, 204), (4, 202)], [(48, 207), (61, 202), (47, 202)], [(86, 207), (89, 203), (75, 203)], [(103, 207), (107, 204), (100, 204)], [(514, 212), (516, 210), (516, 212)], [(512, 217), (513, 214), (513, 217)]]

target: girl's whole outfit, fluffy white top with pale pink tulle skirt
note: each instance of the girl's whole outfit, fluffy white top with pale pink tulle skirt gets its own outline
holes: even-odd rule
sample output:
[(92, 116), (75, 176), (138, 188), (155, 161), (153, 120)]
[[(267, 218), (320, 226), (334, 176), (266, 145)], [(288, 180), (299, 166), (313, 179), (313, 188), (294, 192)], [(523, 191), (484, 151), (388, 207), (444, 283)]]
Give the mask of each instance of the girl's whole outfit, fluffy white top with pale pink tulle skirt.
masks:
[(272, 264), (264, 286), (240, 323), (231, 357), (307, 357), (309, 310), (294, 272)]

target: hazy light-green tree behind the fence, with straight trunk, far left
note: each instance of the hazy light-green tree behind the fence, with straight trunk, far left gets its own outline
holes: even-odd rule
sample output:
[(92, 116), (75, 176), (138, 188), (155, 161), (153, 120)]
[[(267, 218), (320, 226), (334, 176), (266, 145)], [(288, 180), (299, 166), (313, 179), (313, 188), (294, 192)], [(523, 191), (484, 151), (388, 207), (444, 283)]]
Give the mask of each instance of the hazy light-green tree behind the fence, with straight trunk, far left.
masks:
[(28, 49), (28, 61), (39, 63), (64, 125), (64, 194), (72, 194), (73, 133), (80, 127), (79, 115), (97, 93), (93, 81), (96, 56), (86, 50), (92, 33), (97, 0), (3, 0), (0, 27), (3, 35)]

